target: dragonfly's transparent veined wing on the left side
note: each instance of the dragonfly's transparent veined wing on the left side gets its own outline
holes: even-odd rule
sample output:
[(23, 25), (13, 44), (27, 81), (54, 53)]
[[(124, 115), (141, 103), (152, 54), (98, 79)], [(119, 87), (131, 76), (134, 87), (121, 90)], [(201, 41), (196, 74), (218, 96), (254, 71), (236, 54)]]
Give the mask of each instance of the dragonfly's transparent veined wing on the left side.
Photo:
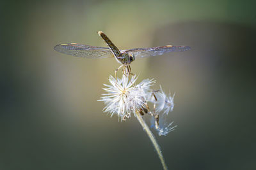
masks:
[(103, 59), (114, 57), (109, 48), (100, 46), (81, 45), (77, 43), (67, 43), (54, 46), (57, 52), (83, 57), (88, 59)]

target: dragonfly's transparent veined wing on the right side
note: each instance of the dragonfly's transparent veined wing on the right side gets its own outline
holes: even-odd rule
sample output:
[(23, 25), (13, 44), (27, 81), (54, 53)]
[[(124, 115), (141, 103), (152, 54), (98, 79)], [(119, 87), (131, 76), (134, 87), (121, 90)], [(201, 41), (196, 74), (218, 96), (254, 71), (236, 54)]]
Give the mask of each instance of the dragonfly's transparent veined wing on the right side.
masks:
[(156, 55), (163, 55), (168, 52), (183, 52), (189, 50), (189, 46), (156, 46), (152, 48), (133, 48), (131, 50), (122, 50), (121, 52), (128, 52), (134, 55), (134, 57), (150, 57)]

